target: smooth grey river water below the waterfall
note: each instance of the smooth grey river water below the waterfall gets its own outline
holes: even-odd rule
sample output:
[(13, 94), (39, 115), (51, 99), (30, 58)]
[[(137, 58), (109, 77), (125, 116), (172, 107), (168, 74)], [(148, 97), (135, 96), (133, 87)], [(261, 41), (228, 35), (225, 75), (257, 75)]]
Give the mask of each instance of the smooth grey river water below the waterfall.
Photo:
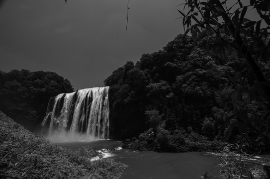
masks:
[[(77, 150), (83, 146), (100, 150), (117, 148), (122, 142), (97, 140), (58, 143), (58, 145), (70, 150)], [(216, 167), (219, 164), (218, 159), (204, 152), (157, 153), (120, 149), (109, 151), (107, 155), (128, 166), (121, 179), (199, 179), (199, 176), (206, 172), (219, 174), (219, 168)]]

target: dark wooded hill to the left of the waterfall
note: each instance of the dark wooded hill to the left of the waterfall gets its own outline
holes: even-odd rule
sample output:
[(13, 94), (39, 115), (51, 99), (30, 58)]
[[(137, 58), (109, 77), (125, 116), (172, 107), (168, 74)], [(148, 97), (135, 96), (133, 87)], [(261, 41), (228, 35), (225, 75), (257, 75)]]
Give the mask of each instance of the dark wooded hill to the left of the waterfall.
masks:
[(45, 116), (50, 97), (72, 91), (70, 82), (53, 72), (0, 71), (0, 110), (30, 130)]

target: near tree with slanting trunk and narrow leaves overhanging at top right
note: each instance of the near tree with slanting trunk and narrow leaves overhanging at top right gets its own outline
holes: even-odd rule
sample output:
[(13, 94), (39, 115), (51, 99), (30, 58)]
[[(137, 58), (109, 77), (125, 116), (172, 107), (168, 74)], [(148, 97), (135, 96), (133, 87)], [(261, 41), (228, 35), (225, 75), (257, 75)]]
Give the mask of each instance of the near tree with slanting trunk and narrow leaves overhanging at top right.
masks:
[[(270, 83), (265, 78), (262, 70), (256, 62), (256, 58), (269, 60), (268, 30), (270, 29), (270, 1), (250, 0), (249, 4), (243, 5), (237, 0), (229, 6), (227, 0), (185, 0), (184, 7), (190, 9), (183, 15), (183, 26), (187, 27), (185, 34), (189, 31), (193, 37), (201, 33), (202, 29), (213, 30), (218, 37), (234, 47), (240, 56), (244, 57), (251, 72), (260, 84), (263, 93), (270, 102)], [(235, 7), (235, 5), (239, 7)], [(258, 21), (246, 18), (246, 12), (256, 10), (260, 17)], [(200, 20), (198, 20), (200, 19)], [(266, 27), (261, 28), (261, 24)], [(233, 37), (233, 41), (228, 40)], [(267, 43), (263, 43), (265, 40)], [(254, 47), (260, 47), (257, 54), (253, 55)]]

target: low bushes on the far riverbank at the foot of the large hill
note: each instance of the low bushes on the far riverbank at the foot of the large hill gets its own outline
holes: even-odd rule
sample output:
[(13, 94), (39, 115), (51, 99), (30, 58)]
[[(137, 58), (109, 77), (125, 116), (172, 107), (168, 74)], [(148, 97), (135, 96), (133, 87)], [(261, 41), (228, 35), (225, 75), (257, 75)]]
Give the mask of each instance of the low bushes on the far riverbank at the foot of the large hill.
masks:
[(162, 129), (155, 136), (152, 130), (141, 133), (138, 138), (123, 141), (122, 148), (145, 151), (154, 150), (158, 152), (189, 152), (189, 151), (221, 151), (227, 144), (221, 141), (209, 141), (205, 136), (183, 129), (169, 131)]

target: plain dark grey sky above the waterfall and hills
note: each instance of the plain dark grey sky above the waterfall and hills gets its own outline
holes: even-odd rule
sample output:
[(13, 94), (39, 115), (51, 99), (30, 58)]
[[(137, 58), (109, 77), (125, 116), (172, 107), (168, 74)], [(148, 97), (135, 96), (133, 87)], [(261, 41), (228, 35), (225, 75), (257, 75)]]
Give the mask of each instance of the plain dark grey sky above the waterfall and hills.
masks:
[(6, 0), (0, 70), (51, 71), (74, 89), (103, 87), (113, 70), (183, 33), (181, 0)]

